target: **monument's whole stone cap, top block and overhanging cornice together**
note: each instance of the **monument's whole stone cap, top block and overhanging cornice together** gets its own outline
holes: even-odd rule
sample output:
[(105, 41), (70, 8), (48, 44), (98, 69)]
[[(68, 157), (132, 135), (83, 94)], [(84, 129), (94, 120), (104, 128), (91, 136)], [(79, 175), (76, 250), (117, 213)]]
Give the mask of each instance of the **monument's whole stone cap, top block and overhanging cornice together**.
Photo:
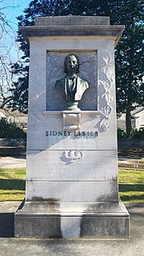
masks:
[(109, 17), (64, 16), (40, 17), (35, 19), (35, 26), (22, 26), (22, 34), (30, 37), (59, 36), (113, 36), (118, 43), (124, 26), (110, 26)]

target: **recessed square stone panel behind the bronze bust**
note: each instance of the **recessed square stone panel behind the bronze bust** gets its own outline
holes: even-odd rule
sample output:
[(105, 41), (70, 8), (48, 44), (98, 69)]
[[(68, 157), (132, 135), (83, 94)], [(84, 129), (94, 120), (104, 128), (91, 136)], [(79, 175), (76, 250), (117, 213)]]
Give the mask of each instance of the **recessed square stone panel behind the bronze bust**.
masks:
[[(47, 85), (46, 85), (46, 110), (65, 110), (66, 98), (54, 89), (57, 80), (66, 76), (63, 69), (63, 62), (66, 58), (66, 51), (48, 51), (47, 52)], [(75, 51), (78, 55), (80, 70), (78, 77), (89, 81), (89, 92), (82, 94), (79, 101), (79, 108), (82, 110), (97, 109), (97, 52), (96, 51)], [(81, 80), (79, 80), (80, 82)], [(55, 104), (57, 102), (57, 104)]]

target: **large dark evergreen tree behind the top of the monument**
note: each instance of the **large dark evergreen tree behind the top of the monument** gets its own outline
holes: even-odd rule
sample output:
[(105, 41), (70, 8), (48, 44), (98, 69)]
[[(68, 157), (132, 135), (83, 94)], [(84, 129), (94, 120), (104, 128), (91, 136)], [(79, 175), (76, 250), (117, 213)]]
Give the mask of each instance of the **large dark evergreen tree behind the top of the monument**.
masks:
[[(109, 16), (111, 25), (126, 26), (115, 50), (116, 85), (118, 112), (126, 111), (126, 133), (130, 138), (130, 111), (136, 106), (141, 106), (143, 102), (143, 0), (34, 0), (24, 10), (24, 14), (18, 17), (19, 26), (34, 25), (34, 18), (38, 16), (55, 15)], [(17, 106), (16, 102), (13, 102), (13, 107), (26, 111), (29, 47), (20, 32), (18, 32), (18, 42), (21, 43), (24, 55), (22, 65), (16, 63), (13, 66), (14, 74), (19, 75), (13, 90), (14, 98), (17, 98)]]

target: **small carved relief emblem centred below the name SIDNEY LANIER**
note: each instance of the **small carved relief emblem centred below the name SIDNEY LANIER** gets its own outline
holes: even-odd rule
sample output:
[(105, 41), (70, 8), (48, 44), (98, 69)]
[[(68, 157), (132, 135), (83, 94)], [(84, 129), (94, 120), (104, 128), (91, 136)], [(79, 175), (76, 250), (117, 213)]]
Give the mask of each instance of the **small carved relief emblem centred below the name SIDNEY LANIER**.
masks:
[(83, 157), (83, 153), (81, 150), (64, 150), (62, 152), (61, 160), (62, 162), (66, 162), (66, 164), (70, 164), (75, 160), (81, 159)]

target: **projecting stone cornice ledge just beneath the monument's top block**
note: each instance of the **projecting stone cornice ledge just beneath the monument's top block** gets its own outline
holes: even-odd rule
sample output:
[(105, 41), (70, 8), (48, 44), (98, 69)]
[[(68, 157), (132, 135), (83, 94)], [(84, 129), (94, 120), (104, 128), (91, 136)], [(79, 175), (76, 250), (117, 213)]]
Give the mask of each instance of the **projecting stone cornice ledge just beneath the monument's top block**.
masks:
[(26, 41), (32, 37), (114, 37), (115, 44), (125, 26), (21, 26)]

